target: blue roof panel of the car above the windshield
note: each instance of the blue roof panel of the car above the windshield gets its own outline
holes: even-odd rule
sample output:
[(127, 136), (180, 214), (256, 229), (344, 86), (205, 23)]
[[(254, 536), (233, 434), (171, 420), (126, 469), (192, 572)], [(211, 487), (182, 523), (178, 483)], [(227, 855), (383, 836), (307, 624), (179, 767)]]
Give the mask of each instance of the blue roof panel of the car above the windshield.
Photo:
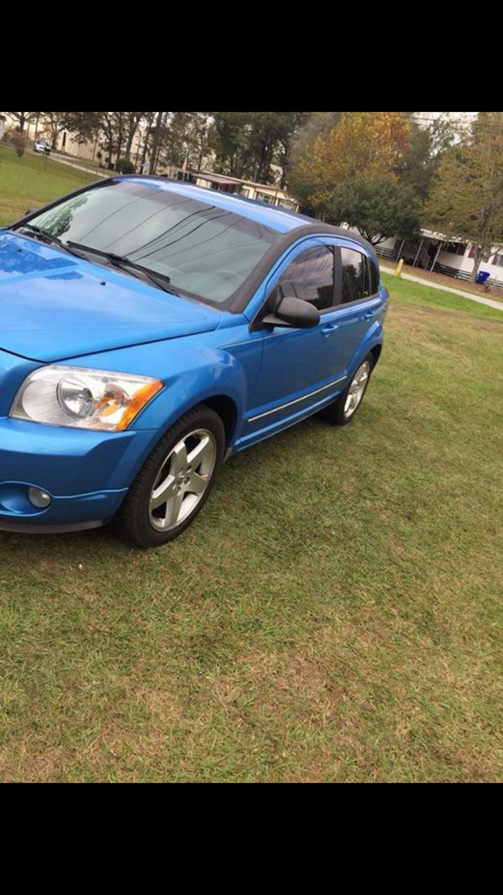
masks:
[[(271, 230), (277, 230), (278, 233), (288, 233), (290, 230), (295, 230), (297, 227), (302, 227), (306, 224), (318, 225), (320, 233), (326, 231), (328, 227), (323, 221), (317, 221), (316, 218), (308, 217), (307, 215), (300, 215), (296, 211), (279, 209), (276, 206), (268, 205), (266, 202), (245, 199), (244, 196), (236, 196), (232, 192), (220, 192), (205, 186), (195, 186), (193, 183), (187, 183), (186, 181), (169, 180), (167, 177), (153, 175), (125, 175), (117, 179), (149, 183), (149, 185), (159, 190), (177, 192), (191, 199), (199, 199), (201, 202), (210, 201), (217, 208), (235, 211), (236, 214), (249, 217), (251, 220), (257, 221), (258, 224), (269, 226)], [(329, 230), (331, 231), (332, 229), (333, 227), (330, 226)], [(347, 235), (346, 231), (341, 231), (341, 233)]]

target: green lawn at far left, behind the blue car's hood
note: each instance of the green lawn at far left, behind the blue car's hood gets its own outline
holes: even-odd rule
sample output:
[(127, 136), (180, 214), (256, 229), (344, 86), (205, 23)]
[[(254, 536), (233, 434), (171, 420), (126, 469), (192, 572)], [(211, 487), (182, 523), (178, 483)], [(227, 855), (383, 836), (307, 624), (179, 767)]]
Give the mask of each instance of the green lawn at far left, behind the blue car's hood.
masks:
[(0, 226), (11, 224), (26, 209), (44, 205), (96, 179), (95, 175), (28, 151), (18, 158), (10, 146), (0, 143)]

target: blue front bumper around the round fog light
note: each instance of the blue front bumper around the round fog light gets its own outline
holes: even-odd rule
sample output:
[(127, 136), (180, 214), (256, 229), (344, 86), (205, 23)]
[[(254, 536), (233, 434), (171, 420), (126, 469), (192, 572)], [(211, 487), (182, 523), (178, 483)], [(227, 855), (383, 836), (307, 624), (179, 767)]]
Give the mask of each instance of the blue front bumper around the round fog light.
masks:
[[(42, 533), (104, 524), (157, 440), (154, 430), (73, 430), (0, 418), (0, 529)], [(30, 504), (30, 487), (47, 491), (47, 508)]]

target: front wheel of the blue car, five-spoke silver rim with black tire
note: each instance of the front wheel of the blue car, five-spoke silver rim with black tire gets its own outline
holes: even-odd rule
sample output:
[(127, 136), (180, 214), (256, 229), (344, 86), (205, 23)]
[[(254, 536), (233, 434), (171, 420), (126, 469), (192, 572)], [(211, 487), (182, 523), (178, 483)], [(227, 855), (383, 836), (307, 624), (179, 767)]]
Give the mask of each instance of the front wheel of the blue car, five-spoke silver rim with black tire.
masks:
[(115, 532), (144, 549), (173, 541), (208, 500), (225, 449), (226, 432), (217, 413), (203, 404), (184, 413), (132, 482), (112, 520)]

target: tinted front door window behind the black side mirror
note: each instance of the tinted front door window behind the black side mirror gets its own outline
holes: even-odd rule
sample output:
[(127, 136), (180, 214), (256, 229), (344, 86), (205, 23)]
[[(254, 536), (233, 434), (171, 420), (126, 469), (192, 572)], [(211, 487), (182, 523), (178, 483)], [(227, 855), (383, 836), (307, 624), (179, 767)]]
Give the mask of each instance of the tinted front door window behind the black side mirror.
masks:
[(334, 301), (334, 255), (328, 246), (301, 251), (277, 282), (280, 298), (294, 295), (323, 311)]

